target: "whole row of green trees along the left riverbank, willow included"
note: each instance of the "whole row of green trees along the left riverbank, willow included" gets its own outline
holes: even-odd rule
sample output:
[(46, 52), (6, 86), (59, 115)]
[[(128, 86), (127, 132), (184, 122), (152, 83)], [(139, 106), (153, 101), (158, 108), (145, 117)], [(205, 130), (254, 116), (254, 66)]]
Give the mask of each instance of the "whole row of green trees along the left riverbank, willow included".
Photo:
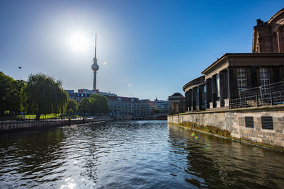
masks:
[(109, 113), (109, 101), (102, 95), (92, 95), (83, 98), (79, 104), (62, 88), (61, 81), (55, 81), (45, 74), (31, 74), (28, 81), (14, 80), (0, 71), (0, 114), (10, 115), (21, 111), (35, 114), (35, 120), (40, 115), (50, 113), (74, 114)]

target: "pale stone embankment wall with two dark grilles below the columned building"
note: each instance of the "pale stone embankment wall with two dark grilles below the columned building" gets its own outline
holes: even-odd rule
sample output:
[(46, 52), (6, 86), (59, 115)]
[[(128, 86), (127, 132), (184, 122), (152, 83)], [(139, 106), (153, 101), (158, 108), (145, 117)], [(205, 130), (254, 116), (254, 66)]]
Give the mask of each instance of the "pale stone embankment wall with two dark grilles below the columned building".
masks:
[(284, 149), (283, 105), (181, 113), (168, 115), (168, 122), (224, 137)]

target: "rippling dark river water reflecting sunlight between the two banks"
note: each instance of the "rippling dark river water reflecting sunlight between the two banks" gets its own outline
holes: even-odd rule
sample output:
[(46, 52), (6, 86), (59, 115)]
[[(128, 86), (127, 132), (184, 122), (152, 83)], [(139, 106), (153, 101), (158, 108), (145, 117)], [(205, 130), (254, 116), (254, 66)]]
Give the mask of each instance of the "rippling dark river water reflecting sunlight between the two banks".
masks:
[(0, 134), (0, 188), (283, 188), (284, 152), (168, 125)]

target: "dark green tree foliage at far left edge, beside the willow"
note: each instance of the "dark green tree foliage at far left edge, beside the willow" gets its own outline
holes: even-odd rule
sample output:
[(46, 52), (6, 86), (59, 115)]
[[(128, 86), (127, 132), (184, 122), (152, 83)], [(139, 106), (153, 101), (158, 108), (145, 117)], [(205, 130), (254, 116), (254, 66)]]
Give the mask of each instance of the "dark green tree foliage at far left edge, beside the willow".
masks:
[(21, 110), (21, 90), (26, 81), (14, 80), (0, 71), (0, 114), (5, 110), (18, 113)]

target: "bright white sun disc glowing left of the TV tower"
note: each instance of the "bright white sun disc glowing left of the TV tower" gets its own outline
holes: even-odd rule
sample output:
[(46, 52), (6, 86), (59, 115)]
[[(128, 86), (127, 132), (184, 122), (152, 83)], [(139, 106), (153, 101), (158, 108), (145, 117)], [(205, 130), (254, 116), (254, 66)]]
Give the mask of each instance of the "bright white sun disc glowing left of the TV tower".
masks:
[(68, 45), (75, 51), (84, 52), (89, 47), (89, 40), (87, 35), (80, 32), (75, 32), (67, 39)]

